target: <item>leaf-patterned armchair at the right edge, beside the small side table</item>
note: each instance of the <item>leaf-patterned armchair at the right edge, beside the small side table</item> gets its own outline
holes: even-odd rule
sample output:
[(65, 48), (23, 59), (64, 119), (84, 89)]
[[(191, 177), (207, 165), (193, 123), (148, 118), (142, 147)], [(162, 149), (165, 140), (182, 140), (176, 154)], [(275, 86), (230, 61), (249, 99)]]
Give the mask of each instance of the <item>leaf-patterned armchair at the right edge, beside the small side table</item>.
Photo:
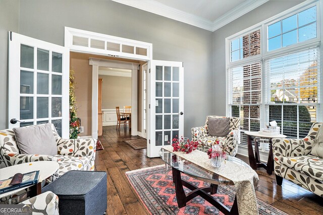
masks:
[(318, 128), (322, 124), (313, 123), (303, 139), (272, 139), (278, 185), (282, 185), (285, 178), (323, 197), (323, 159), (310, 155)]

